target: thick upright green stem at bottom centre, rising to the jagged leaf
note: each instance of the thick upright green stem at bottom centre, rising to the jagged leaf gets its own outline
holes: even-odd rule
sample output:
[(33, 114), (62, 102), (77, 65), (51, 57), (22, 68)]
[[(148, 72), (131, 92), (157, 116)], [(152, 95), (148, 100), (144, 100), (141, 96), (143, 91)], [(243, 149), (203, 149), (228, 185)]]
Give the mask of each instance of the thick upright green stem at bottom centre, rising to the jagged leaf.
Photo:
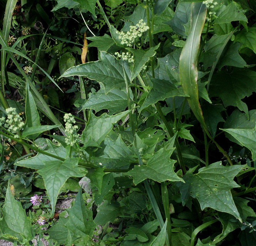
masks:
[(169, 209), (169, 196), (168, 196), (168, 190), (167, 190), (167, 183), (162, 182), (161, 183), (161, 193), (162, 193), (162, 201), (164, 205), (164, 213), (165, 213), (165, 219), (167, 220), (167, 235), (169, 239), (169, 244), (172, 245), (172, 225), (171, 225), (171, 216), (170, 216), (170, 209)]

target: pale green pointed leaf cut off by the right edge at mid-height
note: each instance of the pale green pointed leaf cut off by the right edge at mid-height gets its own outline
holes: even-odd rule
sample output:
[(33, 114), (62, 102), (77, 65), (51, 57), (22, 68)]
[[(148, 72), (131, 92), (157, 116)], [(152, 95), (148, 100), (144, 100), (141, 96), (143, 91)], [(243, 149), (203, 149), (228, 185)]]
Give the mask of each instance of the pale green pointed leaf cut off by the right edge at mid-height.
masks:
[(245, 146), (252, 152), (252, 160), (256, 160), (256, 126), (252, 130), (248, 129), (220, 129), (228, 132), (236, 138), (240, 145)]

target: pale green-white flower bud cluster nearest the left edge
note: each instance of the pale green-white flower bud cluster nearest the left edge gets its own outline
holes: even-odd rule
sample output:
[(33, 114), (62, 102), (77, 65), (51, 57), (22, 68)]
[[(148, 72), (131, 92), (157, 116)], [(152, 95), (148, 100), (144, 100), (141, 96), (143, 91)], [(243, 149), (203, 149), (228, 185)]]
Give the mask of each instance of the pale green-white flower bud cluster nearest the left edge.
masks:
[[(5, 112), (7, 119), (5, 121), (4, 127), (12, 133), (16, 133), (22, 126), (24, 126), (22, 118), (17, 114), (16, 108), (6, 108)], [(3, 118), (1, 118), (1, 121), (2, 120)]]

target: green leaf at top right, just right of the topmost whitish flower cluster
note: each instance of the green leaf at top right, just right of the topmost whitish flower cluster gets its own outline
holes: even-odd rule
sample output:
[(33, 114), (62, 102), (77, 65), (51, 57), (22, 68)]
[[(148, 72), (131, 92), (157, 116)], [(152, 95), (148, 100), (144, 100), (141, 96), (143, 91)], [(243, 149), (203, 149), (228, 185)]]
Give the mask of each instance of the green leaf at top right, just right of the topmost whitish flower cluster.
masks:
[(216, 15), (218, 16), (218, 18), (214, 20), (216, 24), (230, 23), (231, 21), (236, 20), (247, 22), (247, 18), (244, 13), (240, 11), (233, 2), (228, 5), (222, 4)]

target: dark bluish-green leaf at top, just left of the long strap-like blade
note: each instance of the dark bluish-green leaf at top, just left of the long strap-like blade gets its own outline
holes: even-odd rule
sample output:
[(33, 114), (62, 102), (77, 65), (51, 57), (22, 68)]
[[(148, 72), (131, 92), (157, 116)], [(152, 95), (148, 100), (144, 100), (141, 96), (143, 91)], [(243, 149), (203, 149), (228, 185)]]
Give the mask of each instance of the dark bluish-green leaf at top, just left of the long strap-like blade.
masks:
[(186, 30), (184, 25), (189, 24), (190, 19), (190, 3), (181, 3), (177, 5), (173, 18), (167, 22), (172, 27), (172, 30), (180, 35), (182, 38), (186, 38)]

